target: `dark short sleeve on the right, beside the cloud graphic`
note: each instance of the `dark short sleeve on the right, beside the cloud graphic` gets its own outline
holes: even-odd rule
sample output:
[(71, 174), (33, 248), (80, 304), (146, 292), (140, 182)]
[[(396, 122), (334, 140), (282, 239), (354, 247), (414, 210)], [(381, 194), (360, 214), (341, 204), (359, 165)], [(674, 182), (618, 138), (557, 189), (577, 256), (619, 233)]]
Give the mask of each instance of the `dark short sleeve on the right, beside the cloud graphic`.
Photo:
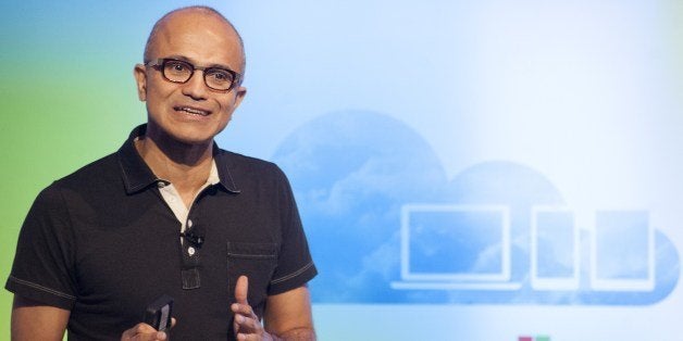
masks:
[(269, 295), (283, 293), (306, 285), (318, 274), (291, 187), (285, 174), (276, 168), (280, 178), (278, 194), (282, 220), (282, 244), (277, 267), (269, 288)]

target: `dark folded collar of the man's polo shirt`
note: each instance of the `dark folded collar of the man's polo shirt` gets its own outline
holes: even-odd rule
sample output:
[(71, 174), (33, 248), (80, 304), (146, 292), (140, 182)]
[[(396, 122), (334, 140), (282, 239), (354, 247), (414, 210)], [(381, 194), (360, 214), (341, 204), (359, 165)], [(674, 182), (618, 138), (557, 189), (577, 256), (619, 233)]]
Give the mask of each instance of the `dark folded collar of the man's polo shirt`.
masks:
[[(128, 139), (119, 149), (119, 165), (121, 167), (121, 175), (126, 189), (126, 193), (132, 194), (139, 192), (149, 186), (157, 186), (160, 181), (165, 181), (152, 173), (142, 156), (135, 149), (135, 139), (145, 136), (147, 130), (147, 124), (137, 126)], [(219, 146), (213, 142), (213, 161), (218, 171), (220, 185), (232, 193), (239, 193), (239, 189), (235, 185), (233, 176), (231, 175), (227, 160), (220, 153)]]

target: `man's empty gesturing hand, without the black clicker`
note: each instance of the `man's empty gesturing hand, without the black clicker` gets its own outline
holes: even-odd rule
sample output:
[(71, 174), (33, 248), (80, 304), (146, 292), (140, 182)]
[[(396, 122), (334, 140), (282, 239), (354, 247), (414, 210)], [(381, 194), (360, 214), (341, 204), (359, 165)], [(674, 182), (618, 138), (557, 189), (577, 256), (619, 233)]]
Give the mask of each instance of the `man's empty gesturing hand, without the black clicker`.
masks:
[(231, 305), (235, 314), (233, 328), (237, 340), (272, 340), (271, 336), (263, 330), (259, 317), (253, 313), (251, 305), (247, 302), (249, 292), (249, 279), (247, 276), (239, 276), (235, 285), (235, 300), (237, 303)]

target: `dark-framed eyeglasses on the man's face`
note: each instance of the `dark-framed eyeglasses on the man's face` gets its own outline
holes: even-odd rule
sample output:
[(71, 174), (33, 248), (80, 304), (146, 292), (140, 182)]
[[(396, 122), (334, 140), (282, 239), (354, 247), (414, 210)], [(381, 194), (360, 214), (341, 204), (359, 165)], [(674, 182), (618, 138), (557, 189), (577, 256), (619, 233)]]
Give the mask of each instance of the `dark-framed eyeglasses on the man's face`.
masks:
[(227, 92), (235, 86), (239, 85), (241, 75), (223, 67), (199, 67), (189, 62), (161, 58), (156, 61), (147, 62), (145, 65), (161, 71), (163, 77), (173, 83), (187, 83), (193, 78), (195, 70), (201, 70), (204, 75), (204, 84), (210, 89)]

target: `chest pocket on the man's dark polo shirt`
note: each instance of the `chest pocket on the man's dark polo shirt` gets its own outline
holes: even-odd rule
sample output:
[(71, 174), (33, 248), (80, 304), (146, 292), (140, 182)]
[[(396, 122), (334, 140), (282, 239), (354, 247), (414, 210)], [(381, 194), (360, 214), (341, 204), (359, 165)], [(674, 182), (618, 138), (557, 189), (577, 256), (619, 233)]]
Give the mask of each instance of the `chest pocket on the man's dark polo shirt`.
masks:
[(237, 278), (247, 276), (249, 278), (247, 300), (259, 316), (262, 316), (268, 287), (277, 266), (278, 249), (276, 243), (227, 243), (227, 276), (231, 292), (235, 292)]

